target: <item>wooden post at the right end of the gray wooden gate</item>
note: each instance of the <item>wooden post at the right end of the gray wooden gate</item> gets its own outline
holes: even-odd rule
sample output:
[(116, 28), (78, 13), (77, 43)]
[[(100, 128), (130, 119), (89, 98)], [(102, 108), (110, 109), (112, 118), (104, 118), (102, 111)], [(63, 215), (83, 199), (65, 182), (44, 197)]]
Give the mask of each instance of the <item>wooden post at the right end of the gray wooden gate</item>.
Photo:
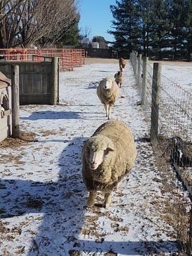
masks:
[(56, 105), (58, 102), (58, 57), (51, 58), (52, 60), (52, 83), (51, 83), (51, 105)]

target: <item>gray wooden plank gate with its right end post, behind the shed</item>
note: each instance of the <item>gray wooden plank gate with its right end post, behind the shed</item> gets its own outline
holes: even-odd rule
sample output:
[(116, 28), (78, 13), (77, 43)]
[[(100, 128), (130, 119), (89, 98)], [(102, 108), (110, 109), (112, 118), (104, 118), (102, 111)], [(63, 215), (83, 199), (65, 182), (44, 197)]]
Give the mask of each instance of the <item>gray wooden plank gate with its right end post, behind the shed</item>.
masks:
[(58, 58), (52, 61), (0, 61), (0, 71), (11, 79), (11, 65), (19, 65), (20, 104), (58, 102)]

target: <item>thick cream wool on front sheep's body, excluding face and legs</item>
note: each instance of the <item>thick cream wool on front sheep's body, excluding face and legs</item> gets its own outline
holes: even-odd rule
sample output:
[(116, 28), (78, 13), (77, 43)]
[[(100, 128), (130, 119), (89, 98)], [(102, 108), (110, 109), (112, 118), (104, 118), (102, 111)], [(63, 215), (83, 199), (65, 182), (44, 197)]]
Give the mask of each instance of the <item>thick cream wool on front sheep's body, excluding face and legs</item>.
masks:
[[(100, 166), (106, 170), (110, 175), (108, 182), (99, 182), (94, 180), (92, 170), (90, 170), (89, 163), (86, 162), (86, 157), (83, 156), (83, 180), (88, 190), (102, 190), (108, 191), (115, 189), (118, 181), (120, 181), (125, 173), (129, 172), (136, 159), (136, 147), (131, 130), (124, 124), (124, 122), (110, 120), (102, 125), (93, 133), (92, 138), (97, 134), (108, 137), (115, 145), (115, 152), (113, 152), (113, 160), (111, 166)], [(84, 145), (86, 147), (86, 144)], [(85, 152), (85, 148), (83, 152)], [(104, 163), (102, 163), (104, 165)]]

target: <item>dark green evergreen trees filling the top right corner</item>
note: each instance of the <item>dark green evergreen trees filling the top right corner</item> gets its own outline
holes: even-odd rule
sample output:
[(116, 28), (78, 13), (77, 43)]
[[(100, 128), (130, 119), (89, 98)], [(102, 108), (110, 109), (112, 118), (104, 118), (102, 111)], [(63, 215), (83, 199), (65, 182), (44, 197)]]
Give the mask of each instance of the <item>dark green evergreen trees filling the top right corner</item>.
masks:
[(186, 55), (192, 51), (192, 0), (119, 0), (110, 6), (117, 49)]

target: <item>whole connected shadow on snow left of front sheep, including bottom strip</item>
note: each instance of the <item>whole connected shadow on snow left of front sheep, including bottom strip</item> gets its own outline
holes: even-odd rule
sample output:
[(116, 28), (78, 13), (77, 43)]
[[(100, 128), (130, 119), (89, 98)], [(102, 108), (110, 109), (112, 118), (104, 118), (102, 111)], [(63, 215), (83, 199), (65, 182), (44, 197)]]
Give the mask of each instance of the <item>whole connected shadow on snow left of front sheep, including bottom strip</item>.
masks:
[[(172, 241), (89, 241), (79, 239), (84, 221), (86, 189), (81, 177), (81, 148), (86, 138), (67, 141), (58, 166), (59, 179), (55, 182), (33, 180), (1, 180), (1, 218), (42, 213), (38, 234), (31, 234), (31, 245), (26, 255), (79, 255), (86, 253), (120, 253), (142, 255), (146, 248), (152, 252), (175, 253)], [(65, 141), (66, 142), (66, 141)], [(33, 225), (32, 225), (33, 226)], [(91, 227), (90, 227), (91, 228)], [(33, 229), (33, 228), (32, 228)], [(115, 237), (118, 237), (117, 235)], [(169, 250), (167, 249), (169, 248)], [(72, 254), (74, 252), (74, 254)], [(140, 253), (139, 253), (140, 252)]]

